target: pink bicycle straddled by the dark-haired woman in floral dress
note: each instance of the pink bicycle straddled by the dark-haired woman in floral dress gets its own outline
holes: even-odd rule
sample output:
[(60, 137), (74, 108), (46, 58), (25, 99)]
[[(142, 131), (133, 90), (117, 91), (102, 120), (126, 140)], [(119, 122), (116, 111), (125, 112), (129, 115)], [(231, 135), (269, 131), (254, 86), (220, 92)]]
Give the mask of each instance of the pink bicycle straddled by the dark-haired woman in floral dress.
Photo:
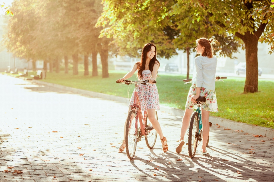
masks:
[[(126, 154), (129, 159), (133, 159), (137, 142), (141, 141), (142, 137), (145, 137), (148, 148), (153, 148), (156, 142), (157, 132), (148, 119), (147, 111), (144, 111), (144, 114), (142, 113), (137, 94), (138, 84), (149, 84), (148, 80), (124, 80), (124, 82), (127, 85), (135, 84), (133, 105), (130, 105), (130, 111), (126, 119)], [(121, 82), (117, 80), (116, 83)], [(153, 83), (156, 83), (156, 81)], [(155, 112), (155, 118), (158, 120), (157, 112)]]

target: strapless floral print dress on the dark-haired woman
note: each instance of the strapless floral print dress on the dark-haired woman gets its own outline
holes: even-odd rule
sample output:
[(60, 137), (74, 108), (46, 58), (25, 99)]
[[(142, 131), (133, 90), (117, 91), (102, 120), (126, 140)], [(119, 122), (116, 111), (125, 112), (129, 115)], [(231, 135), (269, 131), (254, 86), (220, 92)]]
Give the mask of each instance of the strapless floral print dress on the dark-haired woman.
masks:
[[(138, 76), (138, 80), (149, 80), (152, 77), (150, 70), (144, 70), (142, 72), (143, 79)], [(135, 89), (134, 89), (135, 91)], [(130, 99), (130, 105), (133, 104), (134, 91)], [(139, 98), (139, 104), (142, 111), (148, 109), (160, 110), (159, 94), (156, 84), (139, 84), (137, 87), (137, 93)]]

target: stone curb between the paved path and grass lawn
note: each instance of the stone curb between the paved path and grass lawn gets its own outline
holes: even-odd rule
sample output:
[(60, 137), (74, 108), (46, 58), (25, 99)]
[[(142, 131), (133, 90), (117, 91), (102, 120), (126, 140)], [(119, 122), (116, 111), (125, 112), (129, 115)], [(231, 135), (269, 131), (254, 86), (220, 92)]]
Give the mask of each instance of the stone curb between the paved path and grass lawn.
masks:
[[(59, 85), (59, 84), (55, 84), (55, 83), (43, 82), (43, 81), (39, 81), (39, 80), (27, 80), (27, 81), (37, 83), (37, 84), (52, 86), (55, 88), (60, 88), (60, 89), (74, 92), (77, 94), (88, 95), (91, 97), (102, 98), (105, 100), (114, 100), (117, 102), (129, 104), (128, 98), (124, 98), (124, 97), (112, 96), (112, 95), (108, 95), (108, 94), (102, 94), (102, 93), (98, 93), (98, 92), (92, 92), (92, 91), (88, 91), (88, 90), (72, 88), (72, 87), (63, 86), (63, 85)], [(160, 105), (160, 107), (161, 107), (161, 111), (170, 113), (172, 115), (183, 116), (184, 112), (185, 112), (184, 110), (175, 109), (175, 108), (171, 108), (171, 107), (167, 107), (167, 106)], [(242, 130), (246, 133), (252, 133), (254, 135), (262, 135), (264, 137), (274, 138), (274, 129), (271, 129), (271, 128), (250, 125), (250, 124), (246, 124), (246, 123), (232, 121), (229, 119), (223, 119), (220, 117), (212, 117), (211, 116), (211, 117), (209, 117), (209, 120), (213, 125), (218, 124), (222, 127), (230, 128), (233, 130)]]

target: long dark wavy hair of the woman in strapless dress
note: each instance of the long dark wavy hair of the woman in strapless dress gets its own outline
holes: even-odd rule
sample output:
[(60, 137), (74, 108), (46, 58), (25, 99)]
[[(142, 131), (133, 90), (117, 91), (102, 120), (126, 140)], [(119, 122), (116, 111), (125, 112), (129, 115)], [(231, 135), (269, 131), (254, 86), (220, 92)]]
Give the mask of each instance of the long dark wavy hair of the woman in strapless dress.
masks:
[(145, 46), (143, 47), (143, 50), (142, 50), (141, 61), (137, 62), (137, 65), (138, 65), (138, 73), (137, 73), (137, 75), (140, 76), (142, 79), (143, 79), (142, 72), (145, 70), (145, 67), (146, 67), (146, 54), (150, 51), (151, 46), (155, 47), (155, 55), (154, 55), (154, 57), (149, 62), (149, 66), (148, 66), (149, 70), (152, 73), (154, 64), (156, 62), (158, 63), (158, 65), (160, 67), (160, 62), (156, 59), (157, 49), (156, 49), (155, 44), (154, 43), (147, 43), (147, 44), (145, 44)]

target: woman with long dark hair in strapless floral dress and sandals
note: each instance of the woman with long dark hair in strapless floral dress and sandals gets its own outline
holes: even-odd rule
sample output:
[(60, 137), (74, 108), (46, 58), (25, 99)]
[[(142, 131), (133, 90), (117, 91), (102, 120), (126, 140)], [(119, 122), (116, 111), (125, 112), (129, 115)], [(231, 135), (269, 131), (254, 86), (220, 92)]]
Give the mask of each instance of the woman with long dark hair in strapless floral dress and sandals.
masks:
[[(156, 46), (153, 43), (147, 43), (142, 50), (141, 61), (134, 64), (134, 67), (130, 72), (128, 72), (123, 78), (119, 80), (124, 82), (125, 79), (130, 78), (134, 75), (135, 71), (138, 70), (137, 76), (138, 80), (149, 80), (150, 84), (138, 85), (138, 97), (139, 103), (142, 111), (148, 112), (148, 119), (151, 122), (153, 128), (157, 131), (160, 136), (163, 151), (168, 151), (168, 144), (166, 142), (166, 137), (164, 137), (160, 123), (155, 118), (155, 111), (159, 110), (159, 94), (156, 84), (152, 82), (156, 80), (160, 62), (156, 59)], [(130, 104), (133, 104), (134, 95), (132, 94)], [(126, 123), (124, 128), (124, 140), (122, 145), (119, 147), (118, 152), (123, 152), (126, 148)]]

